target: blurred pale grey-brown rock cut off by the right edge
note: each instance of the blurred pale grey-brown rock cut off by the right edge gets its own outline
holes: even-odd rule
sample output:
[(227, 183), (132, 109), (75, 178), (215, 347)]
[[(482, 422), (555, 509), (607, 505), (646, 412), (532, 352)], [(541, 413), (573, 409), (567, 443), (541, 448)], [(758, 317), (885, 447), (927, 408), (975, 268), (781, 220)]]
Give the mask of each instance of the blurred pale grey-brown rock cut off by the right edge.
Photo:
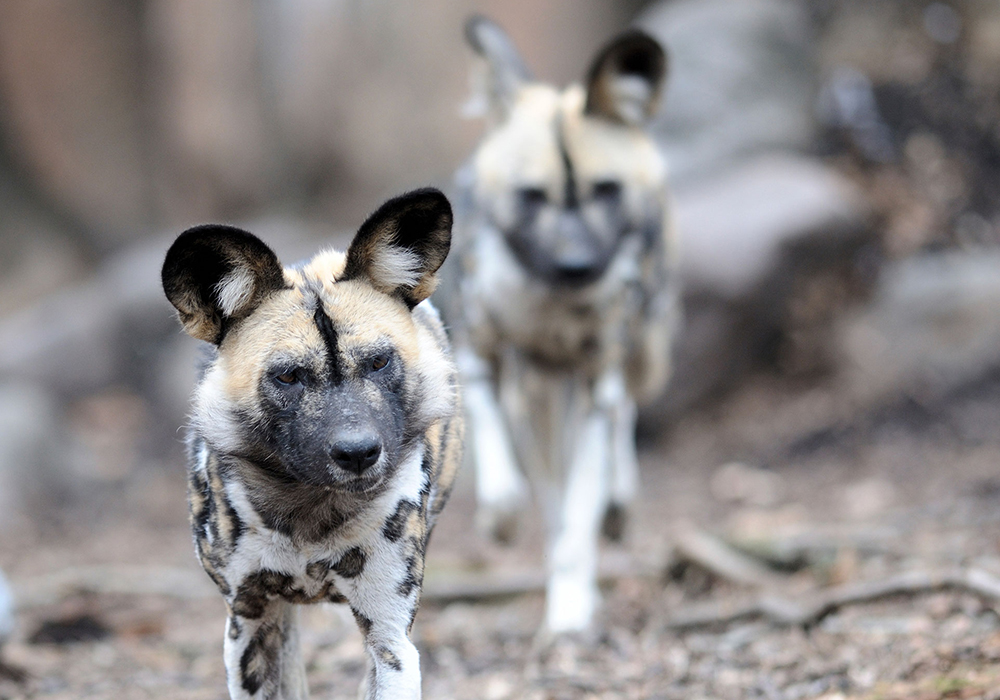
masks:
[(1000, 367), (1000, 253), (892, 263), (869, 306), (845, 318), (838, 347), (862, 402), (933, 399)]

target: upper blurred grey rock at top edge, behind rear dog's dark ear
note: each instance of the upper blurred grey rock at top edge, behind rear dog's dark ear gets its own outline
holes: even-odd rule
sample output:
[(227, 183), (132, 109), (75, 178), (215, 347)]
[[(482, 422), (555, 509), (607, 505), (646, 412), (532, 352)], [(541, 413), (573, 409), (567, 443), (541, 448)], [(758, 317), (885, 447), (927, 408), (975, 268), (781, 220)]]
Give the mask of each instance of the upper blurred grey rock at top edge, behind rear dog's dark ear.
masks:
[(657, 2), (637, 24), (670, 53), (654, 126), (676, 181), (809, 146), (818, 80), (806, 8), (790, 0)]

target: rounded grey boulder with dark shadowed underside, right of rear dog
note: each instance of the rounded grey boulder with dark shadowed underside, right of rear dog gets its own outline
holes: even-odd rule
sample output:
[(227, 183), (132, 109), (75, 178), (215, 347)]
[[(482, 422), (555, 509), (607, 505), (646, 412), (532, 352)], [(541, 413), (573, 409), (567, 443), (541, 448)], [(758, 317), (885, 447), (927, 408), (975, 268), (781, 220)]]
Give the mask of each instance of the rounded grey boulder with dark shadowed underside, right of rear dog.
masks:
[(675, 192), (685, 323), (667, 394), (642, 416), (648, 432), (732, 386), (793, 336), (819, 357), (789, 364), (822, 365), (830, 317), (854, 278), (869, 274), (859, 272), (872, 236), (867, 204), (815, 160), (745, 159)]

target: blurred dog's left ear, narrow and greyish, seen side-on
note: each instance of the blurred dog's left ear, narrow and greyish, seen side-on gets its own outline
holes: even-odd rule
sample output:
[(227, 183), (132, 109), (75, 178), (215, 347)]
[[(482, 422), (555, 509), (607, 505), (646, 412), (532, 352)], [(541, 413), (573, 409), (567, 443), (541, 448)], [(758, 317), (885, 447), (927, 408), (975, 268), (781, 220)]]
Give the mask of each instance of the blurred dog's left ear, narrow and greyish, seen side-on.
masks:
[(481, 100), (497, 120), (510, 112), (518, 90), (531, 81), (531, 72), (524, 64), (514, 42), (493, 20), (474, 15), (465, 23), (465, 38), (485, 63), (480, 83), (474, 89), (474, 99)]

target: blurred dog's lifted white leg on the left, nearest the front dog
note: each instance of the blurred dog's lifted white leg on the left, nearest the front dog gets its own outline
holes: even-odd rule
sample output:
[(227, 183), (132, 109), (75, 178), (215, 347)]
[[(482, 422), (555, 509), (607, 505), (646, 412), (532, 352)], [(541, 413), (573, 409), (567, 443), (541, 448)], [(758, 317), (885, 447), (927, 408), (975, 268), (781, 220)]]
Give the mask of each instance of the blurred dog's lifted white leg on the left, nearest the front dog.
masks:
[(476, 473), (476, 526), (501, 542), (510, 541), (528, 488), (517, 466), (506, 420), (486, 362), (471, 350), (456, 353), (469, 418), (470, 453)]

